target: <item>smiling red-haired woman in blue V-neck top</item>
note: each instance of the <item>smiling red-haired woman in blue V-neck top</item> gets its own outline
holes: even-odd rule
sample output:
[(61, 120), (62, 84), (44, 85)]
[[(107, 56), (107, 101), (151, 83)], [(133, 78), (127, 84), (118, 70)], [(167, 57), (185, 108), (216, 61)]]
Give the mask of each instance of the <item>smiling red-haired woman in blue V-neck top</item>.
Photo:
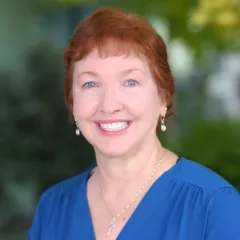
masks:
[(147, 22), (97, 9), (74, 31), (65, 66), (76, 134), (96, 165), (42, 195), (28, 239), (240, 239), (239, 193), (158, 140), (174, 83)]

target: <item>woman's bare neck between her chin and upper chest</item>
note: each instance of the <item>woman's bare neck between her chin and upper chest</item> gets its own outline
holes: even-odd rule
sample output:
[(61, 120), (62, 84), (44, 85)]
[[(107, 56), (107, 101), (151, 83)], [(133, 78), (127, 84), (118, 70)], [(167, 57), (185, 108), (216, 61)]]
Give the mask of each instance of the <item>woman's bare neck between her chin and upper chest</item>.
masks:
[(138, 189), (153, 171), (162, 152), (163, 148), (156, 136), (128, 156), (109, 158), (96, 154), (97, 175), (105, 194), (115, 192), (117, 196), (122, 189)]

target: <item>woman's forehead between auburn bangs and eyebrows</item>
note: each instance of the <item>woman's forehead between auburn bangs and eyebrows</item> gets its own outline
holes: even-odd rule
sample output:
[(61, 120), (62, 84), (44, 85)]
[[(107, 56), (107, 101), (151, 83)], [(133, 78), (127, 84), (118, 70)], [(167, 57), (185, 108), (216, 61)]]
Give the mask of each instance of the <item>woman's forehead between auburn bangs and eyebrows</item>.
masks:
[(96, 71), (101, 74), (114, 74), (127, 69), (139, 69), (148, 73), (149, 67), (146, 59), (136, 54), (120, 55), (120, 56), (99, 56), (97, 50), (93, 50), (86, 58), (77, 61), (75, 71), (78, 73), (84, 71)]

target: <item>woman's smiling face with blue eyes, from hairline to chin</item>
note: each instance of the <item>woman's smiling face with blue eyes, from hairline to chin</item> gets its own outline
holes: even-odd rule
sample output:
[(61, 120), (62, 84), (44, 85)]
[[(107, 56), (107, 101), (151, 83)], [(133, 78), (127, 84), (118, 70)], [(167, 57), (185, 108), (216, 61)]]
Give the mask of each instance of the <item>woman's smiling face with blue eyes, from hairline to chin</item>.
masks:
[(75, 64), (73, 114), (96, 153), (120, 157), (156, 137), (160, 99), (144, 59), (93, 51)]

